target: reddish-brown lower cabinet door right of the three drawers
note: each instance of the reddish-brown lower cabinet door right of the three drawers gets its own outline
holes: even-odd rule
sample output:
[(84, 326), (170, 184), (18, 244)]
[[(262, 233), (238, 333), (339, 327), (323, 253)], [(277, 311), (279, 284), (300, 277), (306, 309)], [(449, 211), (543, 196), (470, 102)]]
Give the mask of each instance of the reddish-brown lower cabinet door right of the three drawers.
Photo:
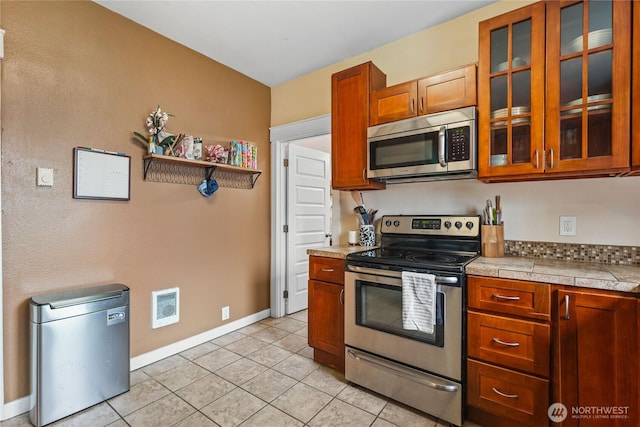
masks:
[(637, 427), (637, 298), (561, 287), (553, 294), (553, 401), (568, 412), (554, 426)]

